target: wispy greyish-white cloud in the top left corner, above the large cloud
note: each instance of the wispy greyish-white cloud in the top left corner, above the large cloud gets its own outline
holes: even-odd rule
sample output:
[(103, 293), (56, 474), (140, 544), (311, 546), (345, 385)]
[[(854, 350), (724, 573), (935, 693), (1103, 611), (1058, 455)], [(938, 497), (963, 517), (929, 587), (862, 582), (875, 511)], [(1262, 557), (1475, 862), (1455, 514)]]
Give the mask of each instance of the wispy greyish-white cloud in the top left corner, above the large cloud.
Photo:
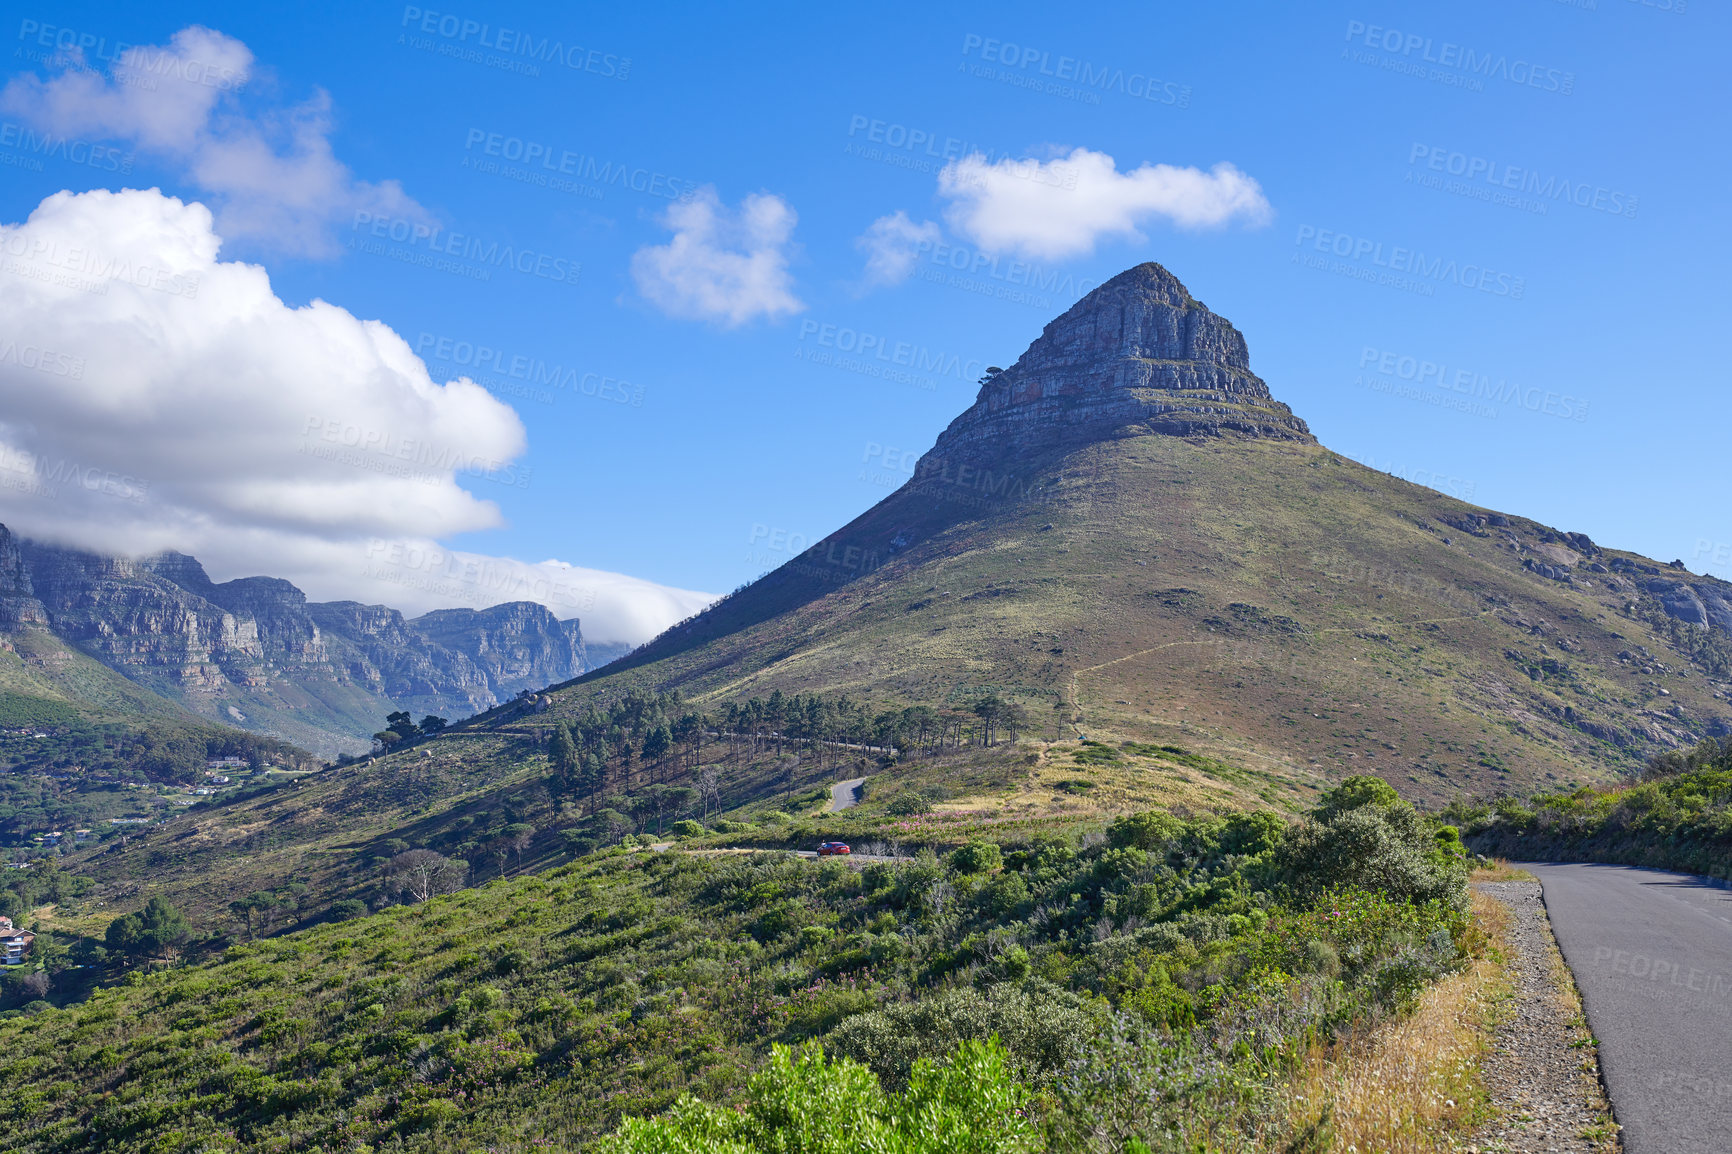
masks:
[(109, 75), (81, 64), (71, 54), (47, 80), (12, 80), (0, 107), (48, 132), (125, 140), (178, 165), (216, 204), (230, 241), (329, 256), (331, 224), (355, 210), (426, 218), (395, 180), (357, 180), (336, 159), (324, 92), (248, 114), (241, 97), (256, 62), (232, 36), (192, 26), (166, 45), (126, 49)]

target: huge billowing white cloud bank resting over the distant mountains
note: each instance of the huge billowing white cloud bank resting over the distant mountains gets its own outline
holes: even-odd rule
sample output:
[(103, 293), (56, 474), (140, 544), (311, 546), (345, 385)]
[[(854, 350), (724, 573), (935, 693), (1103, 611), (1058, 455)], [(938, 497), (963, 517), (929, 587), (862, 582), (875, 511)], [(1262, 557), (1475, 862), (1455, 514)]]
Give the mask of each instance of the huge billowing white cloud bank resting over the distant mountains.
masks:
[(158, 191), (57, 192), (0, 225), (0, 522), (104, 553), (182, 549), (315, 600), (535, 600), (598, 639), (643, 641), (708, 601), (440, 553), (501, 525), (464, 482), (513, 483), (516, 412), (466, 378), (435, 383), (378, 321), (291, 308), (220, 244), (210, 210)]

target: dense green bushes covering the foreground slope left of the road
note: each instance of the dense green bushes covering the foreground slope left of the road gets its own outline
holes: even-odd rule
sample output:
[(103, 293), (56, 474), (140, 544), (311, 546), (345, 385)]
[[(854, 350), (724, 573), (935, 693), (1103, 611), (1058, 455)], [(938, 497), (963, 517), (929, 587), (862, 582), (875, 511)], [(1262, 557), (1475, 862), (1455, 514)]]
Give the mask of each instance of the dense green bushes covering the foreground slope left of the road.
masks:
[(33, 1007), (0, 1112), (33, 1152), (530, 1151), (689, 1095), (613, 1149), (831, 1149), (764, 1133), (852, 1086), (850, 1149), (1271, 1147), (1301, 1048), (1451, 967), (1462, 901), (1363, 783), (864, 866), (613, 849)]

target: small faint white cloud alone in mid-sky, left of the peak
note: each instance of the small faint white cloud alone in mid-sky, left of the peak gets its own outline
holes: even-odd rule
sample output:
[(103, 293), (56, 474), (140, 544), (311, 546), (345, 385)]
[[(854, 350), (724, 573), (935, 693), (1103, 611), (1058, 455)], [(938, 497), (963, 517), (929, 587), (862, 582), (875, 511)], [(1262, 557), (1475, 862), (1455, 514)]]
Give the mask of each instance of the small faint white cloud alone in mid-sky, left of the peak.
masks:
[(797, 220), (786, 201), (769, 192), (753, 192), (733, 211), (715, 189), (698, 189), (662, 218), (674, 239), (632, 255), (637, 291), (675, 317), (729, 327), (800, 312), (805, 305), (788, 274)]

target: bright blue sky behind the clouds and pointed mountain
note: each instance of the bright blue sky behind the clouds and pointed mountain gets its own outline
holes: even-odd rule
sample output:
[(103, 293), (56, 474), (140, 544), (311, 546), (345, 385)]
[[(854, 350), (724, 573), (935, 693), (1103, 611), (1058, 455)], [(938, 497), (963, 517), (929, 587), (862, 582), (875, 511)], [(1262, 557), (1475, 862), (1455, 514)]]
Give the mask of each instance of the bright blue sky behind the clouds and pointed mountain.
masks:
[[(197, 132), (223, 151), (165, 144), (159, 123), (126, 120), (118, 102), (64, 133), (118, 149), (80, 152), (85, 163), (0, 135), (12, 156), (0, 156), (0, 220), (24, 222), (62, 189), (208, 203), (222, 260), (262, 265), (288, 307), (317, 298), (381, 321), (435, 383), (487, 386), (516, 411), (521, 452), (497, 414), (445, 411), (485, 428), (490, 475), (459, 471), (454, 485), (495, 515), (440, 487), (445, 506), (405, 528), (423, 548), (724, 593), (786, 560), (771, 546), (812, 542), (883, 497), (970, 404), (980, 366), (1015, 360), (1089, 284), (1157, 260), (1245, 333), (1252, 367), (1327, 445), (1732, 575), (1720, 348), (1732, 173), (1715, 144), (1732, 29), (1716, 5), (7, 12), (14, 87), (0, 120), (16, 132), (52, 130), (54, 116), (66, 128), (71, 114), (43, 87), (66, 75), (43, 38), (81, 42), (114, 100), (187, 76), (145, 75), (135, 57), (116, 85), (118, 42), (168, 45), (203, 26), (251, 54), (239, 90), (222, 62), (197, 78), (218, 88)], [(237, 123), (308, 163), (308, 140), (327, 146), (343, 172), (284, 208), (293, 182), (229, 147)], [(970, 154), (991, 198), (940, 187), (946, 163)], [(255, 161), (267, 178), (236, 175)], [(1145, 196), (1126, 177), (1145, 165), (1199, 170), (1204, 184), (1230, 165), (1237, 192)], [(1081, 194), (1024, 203), (1029, 185), (1079, 173), (1081, 189), (1057, 192)], [(695, 206), (710, 206), (708, 232), (670, 217)], [(873, 277), (861, 237), (895, 213), (913, 256), (892, 253)], [(478, 260), (501, 248), (527, 270)], [(838, 343), (861, 340), (873, 373), (833, 362)], [(913, 367), (887, 374), (878, 350)], [(553, 367), (563, 386), (537, 385)], [(95, 376), (80, 381), (95, 390), (88, 404), (102, 397)], [(229, 379), (236, 421), (249, 390), (286, 388), (258, 383), (268, 371)], [(348, 421), (341, 395), (310, 419)], [(10, 445), (52, 457), (55, 421), (76, 414), (17, 421)], [(196, 435), (177, 444), (204, 452)], [(106, 449), (66, 452), (83, 464)], [(66, 535), (92, 546), (180, 542), (218, 577), (281, 572), (313, 596), (405, 608), (480, 596), (395, 579), (374, 591), (372, 568), (331, 558), (360, 542), (390, 556), (390, 532), (294, 513), (282, 535), (293, 518), (277, 497), (225, 504), (213, 534), (196, 487), (161, 459), (133, 471), (147, 468), (163, 480), (144, 499), (92, 513), (0, 492), (0, 518), (38, 535), (76, 525)], [(300, 563), (296, 549), (317, 558)], [(651, 598), (632, 613), (620, 600), (650, 586), (584, 587), (565, 603), (629, 639), (701, 603)]]

